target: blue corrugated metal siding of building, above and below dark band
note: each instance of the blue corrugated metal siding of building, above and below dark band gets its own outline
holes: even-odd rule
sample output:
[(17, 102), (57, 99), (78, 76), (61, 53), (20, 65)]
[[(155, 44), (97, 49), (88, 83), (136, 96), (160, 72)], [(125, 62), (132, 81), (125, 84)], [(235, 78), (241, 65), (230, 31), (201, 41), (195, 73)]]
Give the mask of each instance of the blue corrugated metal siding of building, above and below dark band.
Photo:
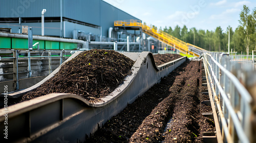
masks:
[[(45, 17), (60, 17), (61, 0), (0, 0), (0, 17), (41, 17), (42, 9), (47, 9)], [(108, 37), (108, 30), (115, 20), (138, 19), (101, 0), (62, 0), (62, 16), (102, 27), (102, 36)], [(10, 18), (11, 20), (11, 18)], [(59, 36), (60, 24), (46, 22), (46, 35)], [(67, 22), (69, 25), (69, 23)], [(33, 28), (33, 34), (40, 35), (40, 23), (22, 23)], [(11, 27), (17, 32), (17, 23), (0, 23), (0, 27)], [(71, 37), (74, 26), (66, 28), (66, 36)], [(78, 28), (78, 27), (77, 27)], [(76, 29), (76, 28), (75, 28)], [(83, 30), (83, 27), (79, 27)], [(89, 28), (86, 28), (86, 31)], [(94, 33), (94, 30), (92, 30)], [(96, 30), (97, 31), (97, 30)], [(97, 32), (94, 33), (97, 35)]]

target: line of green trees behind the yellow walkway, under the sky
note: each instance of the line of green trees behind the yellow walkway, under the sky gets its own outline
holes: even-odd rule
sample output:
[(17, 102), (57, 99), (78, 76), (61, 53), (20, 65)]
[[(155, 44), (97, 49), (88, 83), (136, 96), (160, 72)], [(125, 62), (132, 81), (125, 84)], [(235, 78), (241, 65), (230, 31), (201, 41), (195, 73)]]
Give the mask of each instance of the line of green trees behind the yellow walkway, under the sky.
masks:
[(250, 12), (247, 6), (243, 6), (240, 12), (240, 25), (234, 31), (228, 26), (225, 30), (217, 27), (215, 31), (197, 30), (196, 28), (187, 29), (184, 25), (178, 25), (172, 29), (165, 27), (160, 30), (173, 35), (174, 37), (202, 47), (208, 51), (227, 52), (228, 51), (228, 32), (230, 32), (230, 52), (251, 53), (256, 50), (256, 8)]

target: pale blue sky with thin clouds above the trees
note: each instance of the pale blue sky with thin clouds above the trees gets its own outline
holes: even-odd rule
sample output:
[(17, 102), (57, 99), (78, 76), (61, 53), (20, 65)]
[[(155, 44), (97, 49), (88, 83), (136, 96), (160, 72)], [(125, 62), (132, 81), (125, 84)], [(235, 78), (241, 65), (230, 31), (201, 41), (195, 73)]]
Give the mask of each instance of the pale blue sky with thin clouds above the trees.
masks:
[(190, 29), (215, 31), (221, 27), (223, 32), (228, 26), (235, 30), (239, 25), (243, 5), (252, 11), (255, 0), (103, 0), (124, 12), (154, 25), (158, 29), (184, 25)]

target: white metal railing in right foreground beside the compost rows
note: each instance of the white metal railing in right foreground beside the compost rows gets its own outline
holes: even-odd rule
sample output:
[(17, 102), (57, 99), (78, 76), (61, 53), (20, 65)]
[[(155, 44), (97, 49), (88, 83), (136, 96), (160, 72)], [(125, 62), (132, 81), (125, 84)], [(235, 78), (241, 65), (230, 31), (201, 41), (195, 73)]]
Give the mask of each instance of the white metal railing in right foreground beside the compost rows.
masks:
[(250, 142), (252, 97), (230, 71), (236, 64), (219, 53), (204, 53), (203, 62), (224, 142)]

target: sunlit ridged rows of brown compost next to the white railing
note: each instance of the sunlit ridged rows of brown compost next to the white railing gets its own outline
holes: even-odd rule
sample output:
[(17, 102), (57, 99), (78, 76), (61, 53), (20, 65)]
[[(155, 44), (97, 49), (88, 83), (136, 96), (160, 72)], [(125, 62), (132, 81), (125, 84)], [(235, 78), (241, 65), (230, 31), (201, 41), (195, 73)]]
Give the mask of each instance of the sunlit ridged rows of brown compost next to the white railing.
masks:
[(203, 132), (215, 130), (200, 107), (200, 66), (199, 61), (189, 62), (169, 89), (170, 95), (145, 118), (130, 142), (202, 142)]

